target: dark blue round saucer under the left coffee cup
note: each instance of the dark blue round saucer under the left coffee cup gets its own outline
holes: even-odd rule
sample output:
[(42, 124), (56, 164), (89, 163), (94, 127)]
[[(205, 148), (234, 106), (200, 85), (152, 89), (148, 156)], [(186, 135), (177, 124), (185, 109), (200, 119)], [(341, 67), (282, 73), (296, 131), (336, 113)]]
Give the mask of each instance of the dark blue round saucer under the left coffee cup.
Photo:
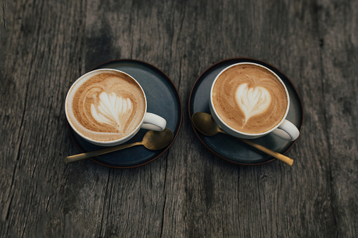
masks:
[[(98, 65), (93, 70), (105, 68), (126, 72), (141, 84), (144, 93), (146, 93), (148, 103), (147, 111), (158, 114), (166, 119), (167, 128), (173, 131), (174, 138), (170, 145), (162, 150), (148, 150), (142, 145), (137, 145), (124, 150), (102, 154), (91, 159), (98, 164), (113, 168), (134, 168), (148, 164), (167, 151), (179, 133), (183, 113), (177, 88), (164, 72), (153, 65), (139, 60), (113, 60)], [(68, 129), (75, 144), (82, 152), (90, 152), (103, 148), (88, 143), (77, 135), (70, 126), (68, 126)], [(147, 130), (141, 129), (139, 133), (134, 135), (127, 143), (141, 141), (146, 131)]]

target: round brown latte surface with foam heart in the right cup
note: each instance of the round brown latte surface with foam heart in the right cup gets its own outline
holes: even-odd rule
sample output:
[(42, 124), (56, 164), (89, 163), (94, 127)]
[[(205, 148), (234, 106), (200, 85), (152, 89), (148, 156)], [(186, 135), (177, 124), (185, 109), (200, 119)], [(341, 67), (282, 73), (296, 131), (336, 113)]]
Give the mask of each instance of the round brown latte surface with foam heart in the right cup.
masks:
[(219, 117), (243, 133), (263, 133), (283, 119), (288, 104), (285, 88), (263, 67), (235, 65), (215, 82), (212, 101)]

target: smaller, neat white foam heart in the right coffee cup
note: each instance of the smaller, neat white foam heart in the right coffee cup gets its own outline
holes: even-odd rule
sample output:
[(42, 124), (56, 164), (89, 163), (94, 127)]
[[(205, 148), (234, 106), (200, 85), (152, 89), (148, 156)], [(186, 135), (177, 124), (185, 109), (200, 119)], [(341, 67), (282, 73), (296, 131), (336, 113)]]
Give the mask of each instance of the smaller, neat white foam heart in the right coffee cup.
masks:
[(245, 115), (246, 124), (251, 117), (262, 114), (271, 103), (271, 95), (266, 88), (256, 86), (249, 88), (248, 84), (241, 84), (236, 89), (236, 103)]

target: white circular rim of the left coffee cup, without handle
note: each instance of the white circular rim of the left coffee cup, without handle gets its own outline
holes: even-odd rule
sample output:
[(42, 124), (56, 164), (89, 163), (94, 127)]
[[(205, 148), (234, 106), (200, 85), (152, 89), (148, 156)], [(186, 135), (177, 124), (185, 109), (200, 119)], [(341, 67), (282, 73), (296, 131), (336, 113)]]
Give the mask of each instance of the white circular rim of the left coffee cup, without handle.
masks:
[[(70, 97), (70, 93), (71, 93), (72, 89), (75, 87), (76, 84), (78, 84), (79, 81), (82, 81), (84, 79), (90, 79), (90, 77), (89, 77), (90, 74), (95, 74), (96, 72), (108, 72), (108, 71), (126, 74), (128, 77), (133, 79), (136, 82), (136, 84), (139, 86), (139, 88), (141, 88), (141, 92), (143, 93), (144, 102), (146, 103), (146, 105), (145, 105), (145, 109), (144, 109), (144, 113), (143, 113), (143, 117), (141, 119), (141, 122), (136, 126), (136, 128), (134, 128), (133, 131), (131, 131), (131, 133), (129, 133), (128, 135), (126, 135), (126, 136), (124, 136), (122, 138), (116, 139), (116, 140), (106, 140), (106, 141), (94, 140), (94, 139), (89, 138), (88, 136), (83, 135), (82, 133), (80, 133), (77, 130), (77, 128), (75, 128), (75, 126), (72, 124), (72, 121), (70, 120), (70, 118), (68, 116), (68, 98)], [(85, 140), (88, 140), (89, 142), (94, 143), (96, 145), (113, 145), (115, 143), (120, 143), (121, 141), (126, 141), (127, 139), (132, 138), (132, 135), (134, 133), (136, 133), (136, 131), (139, 131), (139, 129), (141, 128), (141, 126), (143, 124), (144, 117), (146, 116), (147, 105), (148, 105), (148, 103), (147, 103), (146, 93), (144, 93), (144, 90), (141, 87), (141, 84), (139, 84), (139, 82), (136, 81), (136, 79), (134, 79), (134, 77), (132, 77), (131, 75), (127, 74), (126, 72), (123, 72), (123, 71), (120, 71), (120, 70), (105, 68), (105, 69), (91, 70), (91, 71), (87, 72), (86, 74), (82, 74), (81, 77), (79, 77), (78, 79), (76, 79), (75, 82), (73, 82), (73, 84), (71, 85), (70, 89), (68, 89), (68, 93), (66, 95), (66, 99), (65, 99), (65, 114), (66, 114), (66, 119), (68, 121), (68, 124), (70, 124), (71, 128), (75, 131), (75, 133), (77, 133), (77, 135), (81, 136)]]

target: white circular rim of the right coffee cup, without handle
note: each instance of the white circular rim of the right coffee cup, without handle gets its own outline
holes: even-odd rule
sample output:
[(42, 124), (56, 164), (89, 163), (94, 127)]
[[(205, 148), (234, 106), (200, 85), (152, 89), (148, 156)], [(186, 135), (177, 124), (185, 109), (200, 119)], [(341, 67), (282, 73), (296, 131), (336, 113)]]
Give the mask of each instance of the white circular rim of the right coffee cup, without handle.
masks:
[[(264, 131), (264, 132), (261, 132), (261, 133), (245, 133), (245, 132), (242, 132), (242, 131), (238, 131), (238, 130), (232, 128), (231, 126), (229, 126), (228, 124), (226, 124), (222, 120), (222, 118), (219, 116), (219, 114), (217, 113), (217, 110), (215, 110), (215, 105), (212, 102), (212, 91), (214, 89), (215, 83), (216, 83), (217, 79), (219, 78), (219, 76), (223, 72), (225, 72), (229, 68), (234, 67), (236, 65), (256, 65), (256, 66), (259, 66), (259, 67), (263, 67), (265, 70), (268, 70), (269, 72), (271, 72), (271, 74), (274, 74), (276, 79), (279, 79), (280, 83), (283, 85), (283, 88), (285, 89), (286, 97), (287, 97), (286, 112), (283, 115), (281, 121), (278, 124), (276, 124), (276, 126), (274, 126), (273, 128), (269, 129), (268, 131)], [(231, 131), (234, 131), (235, 133), (238, 133), (238, 134), (241, 134), (241, 135), (248, 135), (248, 136), (252, 136), (252, 137), (257, 137), (257, 136), (267, 135), (268, 133), (271, 133), (271, 131), (274, 131), (276, 128), (278, 128), (282, 124), (282, 122), (286, 119), (287, 114), (288, 114), (288, 110), (290, 109), (290, 95), (288, 94), (288, 90), (286, 88), (286, 85), (283, 83), (282, 79), (274, 71), (270, 70), (268, 67), (265, 67), (264, 65), (260, 65), (260, 64), (255, 63), (255, 62), (238, 62), (238, 63), (232, 64), (232, 65), (229, 65), (228, 67), (225, 67), (224, 70), (220, 71), (219, 74), (217, 74), (217, 76), (215, 77), (214, 81), (212, 82), (211, 88), (210, 88), (210, 105), (211, 105), (212, 111), (215, 113), (217, 119), (219, 119), (219, 121), (222, 124), (224, 124), (224, 126), (226, 126), (226, 128), (229, 128)]]

